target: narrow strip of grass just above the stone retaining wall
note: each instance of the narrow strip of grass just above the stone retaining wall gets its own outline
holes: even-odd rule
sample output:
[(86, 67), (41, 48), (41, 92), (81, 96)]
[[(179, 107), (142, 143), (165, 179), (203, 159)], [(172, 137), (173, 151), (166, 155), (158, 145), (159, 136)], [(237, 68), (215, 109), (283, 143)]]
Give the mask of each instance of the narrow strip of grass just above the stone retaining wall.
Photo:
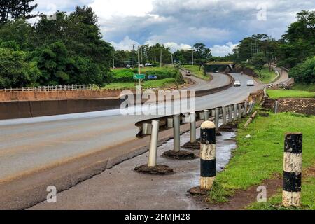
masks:
[(267, 90), (267, 94), (272, 99), (279, 98), (315, 98), (315, 92), (300, 90)]

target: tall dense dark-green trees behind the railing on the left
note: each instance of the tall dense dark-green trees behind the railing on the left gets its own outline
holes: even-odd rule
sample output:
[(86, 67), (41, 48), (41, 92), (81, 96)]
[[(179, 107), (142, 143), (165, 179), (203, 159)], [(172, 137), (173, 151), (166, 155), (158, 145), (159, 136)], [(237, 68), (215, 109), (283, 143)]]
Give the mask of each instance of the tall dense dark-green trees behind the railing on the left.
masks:
[(109, 83), (114, 50), (92, 8), (57, 12), (57, 20), (41, 16), (34, 25), (23, 13), (0, 25), (0, 88)]

